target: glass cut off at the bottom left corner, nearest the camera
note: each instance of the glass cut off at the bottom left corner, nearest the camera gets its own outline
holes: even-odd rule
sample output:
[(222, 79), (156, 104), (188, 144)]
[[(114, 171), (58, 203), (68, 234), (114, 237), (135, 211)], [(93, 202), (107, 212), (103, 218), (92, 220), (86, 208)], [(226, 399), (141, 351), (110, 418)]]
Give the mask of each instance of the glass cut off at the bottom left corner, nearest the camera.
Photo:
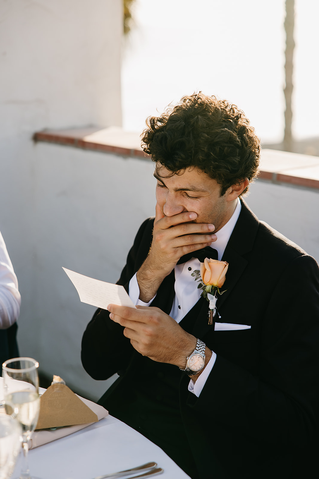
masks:
[(6, 414), (0, 414), (0, 479), (8, 479), (21, 449), (20, 423)]

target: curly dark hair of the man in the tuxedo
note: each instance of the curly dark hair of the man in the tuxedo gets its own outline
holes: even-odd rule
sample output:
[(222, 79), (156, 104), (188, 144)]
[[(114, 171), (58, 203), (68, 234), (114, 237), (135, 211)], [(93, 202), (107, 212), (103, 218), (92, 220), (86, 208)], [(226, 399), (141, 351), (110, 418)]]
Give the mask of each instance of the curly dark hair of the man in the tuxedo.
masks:
[(161, 116), (150, 116), (146, 125), (144, 152), (172, 176), (195, 167), (221, 185), (223, 196), (231, 185), (246, 178), (252, 182), (258, 174), (259, 138), (244, 113), (226, 100), (200, 91), (184, 96)]

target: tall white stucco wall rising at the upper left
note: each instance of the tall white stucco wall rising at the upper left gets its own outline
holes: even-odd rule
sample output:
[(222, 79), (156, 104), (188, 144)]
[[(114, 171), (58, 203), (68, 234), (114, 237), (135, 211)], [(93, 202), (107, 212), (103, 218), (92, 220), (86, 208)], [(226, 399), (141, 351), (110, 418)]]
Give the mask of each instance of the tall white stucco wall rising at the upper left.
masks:
[(33, 133), (121, 125), (122, 20), (121, 0), (0, 2), (0, 229), (13, 260), (31, 248)]

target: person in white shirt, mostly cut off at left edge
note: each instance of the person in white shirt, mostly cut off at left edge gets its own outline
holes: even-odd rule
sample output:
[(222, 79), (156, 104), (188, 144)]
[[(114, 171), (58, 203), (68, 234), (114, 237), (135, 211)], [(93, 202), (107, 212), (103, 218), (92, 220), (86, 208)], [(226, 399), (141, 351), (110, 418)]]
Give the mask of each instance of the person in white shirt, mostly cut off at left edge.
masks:
[(0, 233), (0, 364), (19, 355), (16, 321), (19, 318), (20, 305), (18, 280)]

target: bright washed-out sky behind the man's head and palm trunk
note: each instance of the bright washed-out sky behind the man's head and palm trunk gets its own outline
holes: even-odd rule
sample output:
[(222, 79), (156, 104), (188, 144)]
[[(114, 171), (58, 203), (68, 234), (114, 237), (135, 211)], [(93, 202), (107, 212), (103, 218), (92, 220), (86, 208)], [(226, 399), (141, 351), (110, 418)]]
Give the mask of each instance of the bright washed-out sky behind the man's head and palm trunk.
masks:
[[(295, 0), (294, 124), (319, 136), (319, 2)], [(141, 131), (185, 94), (236, 103), (264, 142), (284, 130), (285, 0), (135, 0), (125, 41), (123, 126)]]

